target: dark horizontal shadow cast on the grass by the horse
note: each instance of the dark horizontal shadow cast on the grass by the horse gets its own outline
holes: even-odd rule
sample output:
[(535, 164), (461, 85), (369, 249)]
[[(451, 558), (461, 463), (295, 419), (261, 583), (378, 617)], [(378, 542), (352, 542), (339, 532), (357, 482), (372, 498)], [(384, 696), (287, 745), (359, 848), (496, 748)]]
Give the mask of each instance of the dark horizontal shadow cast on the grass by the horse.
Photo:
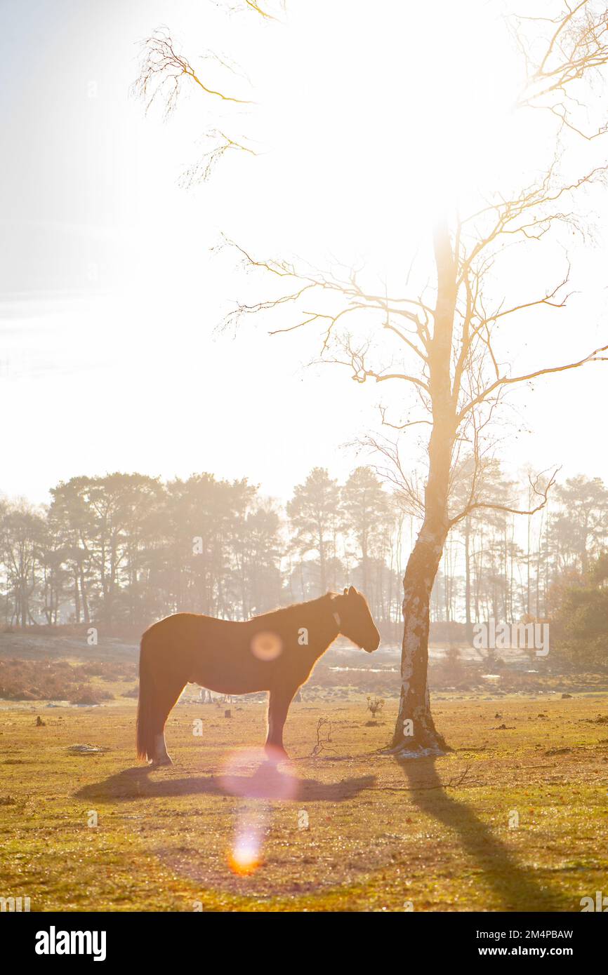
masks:
[(376, 783), (375, 775), (344, 779), (342, 782), (319, 782), (301, 779), (281, 772), (271, 761), (261, 764), (251, 775), (188, 775), (185, 778), (150, 778), (151, 769), (138, 765), (110, 775), (101, 782), (83, 786), (76, 799), (138, 800), (172, 796), (231, 796), (263, 800), (298, 800), (342, 802), (353, 799)]

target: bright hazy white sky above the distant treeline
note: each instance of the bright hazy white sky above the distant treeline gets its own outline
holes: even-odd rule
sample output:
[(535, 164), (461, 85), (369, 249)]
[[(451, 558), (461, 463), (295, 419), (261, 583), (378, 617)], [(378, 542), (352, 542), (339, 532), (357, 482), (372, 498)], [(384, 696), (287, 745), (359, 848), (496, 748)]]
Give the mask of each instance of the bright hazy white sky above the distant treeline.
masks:
[[(351, 468), (343, 445), (373, 426), (379, 389), (340, 368), (305, 368), (318, 332), (270, 337), (263, 320), (214, 331), (248, 281), (231, 254), (211, 249), (224, 231), (264, 256), (360, 257), (393, 281), (441, 196), (437, 174), (474, 171), (485, 141), (510, 158), (510, 143), (485, 139), (491, 113), (478, 146), (459, 144), (457, 130), (433, 141), (450, 71), (420, 80), (430, 15), (413, 23), (403, 5), (396, 30), (394, 4), (327, 6), (294, 0), (290, 26), (261, 28), (201, 0), (4, 0), (1, 490), (41, 501), (77, 474), (209, 470), (285, 496), (314, 465)], [(440, 20), (439, 64), (441, 44), (454, 56), (453, 7)], [(481, 23), (488, 36), (498, 29)], [(200, 152), (207, 103), (193, 95), (163, 122), (130, 96), (139, 43), (161, 24), (193, 61), (213, 49), (243, 63), (263, 105), (242, 115), (260, 155), (234, 153), (189, 190), (179, 177)], [(500, 101), (504, 78), (486, 47), (477, 59), (463, 52), (467, 83), (475, 91), (481, 78)], [(409, 77), (394, 73), (402, 61)], [(243, 79), (226, 77), (250, 97)], [(241, 131), (227, 110), (225, 124)], [(511, 331), (514, 369), (608, 341), (605, 192), (581, 206), (597, 232), (594, 243), (572, 242), (579, 293)], [(538, 291), (543, 271), (555, 283), (562, 245), (545, 266), (513, 265), (522, 293)], [(607, 381), (608, 364), (591, 366), (537, 383), (525, 406), (515, 398), (532, 432), (507, 442), (510, 465), (561, 463), (564, 475), (608, 480)]]

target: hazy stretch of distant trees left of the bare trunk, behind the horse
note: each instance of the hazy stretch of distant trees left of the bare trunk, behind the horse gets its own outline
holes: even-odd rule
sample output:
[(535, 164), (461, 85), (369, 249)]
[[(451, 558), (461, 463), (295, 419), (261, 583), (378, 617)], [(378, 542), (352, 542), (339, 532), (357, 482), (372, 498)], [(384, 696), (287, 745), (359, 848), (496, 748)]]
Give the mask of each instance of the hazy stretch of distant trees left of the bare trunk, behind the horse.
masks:
[(147, 625), (180, 610), (246, 618), (354, 582), (398, 612), (399, 515), (374, 472), (313, 470), (282, 511), (257, 487), (197, 474), (78, 477), (51, 503), (0, 505), (5, 625)]

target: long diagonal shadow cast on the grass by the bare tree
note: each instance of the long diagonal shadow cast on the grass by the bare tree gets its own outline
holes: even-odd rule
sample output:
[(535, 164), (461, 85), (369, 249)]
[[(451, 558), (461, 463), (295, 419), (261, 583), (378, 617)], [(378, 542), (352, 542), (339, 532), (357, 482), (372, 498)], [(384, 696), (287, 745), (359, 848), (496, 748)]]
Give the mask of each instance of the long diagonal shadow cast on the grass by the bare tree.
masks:
[[(473, 866), (480, 871), (480, 881), (494, 891), (506, 911), (567, 911), (557, 891), (542, 886), (538, 878), (517, 863), (502, 839), (475, 815), (465, 802), (445, 791), (435, 768), (434, 759), (397, 761), (406, 776), (410, 796), (421, 812), (454, 831)], [(508, 810), (505, 810), (507, 819)]]

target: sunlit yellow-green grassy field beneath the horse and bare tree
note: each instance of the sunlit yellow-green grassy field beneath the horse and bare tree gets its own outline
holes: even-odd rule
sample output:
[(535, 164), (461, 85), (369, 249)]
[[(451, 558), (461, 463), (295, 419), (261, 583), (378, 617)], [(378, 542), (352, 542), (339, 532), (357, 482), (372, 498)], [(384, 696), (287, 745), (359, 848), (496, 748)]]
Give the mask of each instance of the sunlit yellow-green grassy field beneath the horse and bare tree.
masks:
[[(274, 772), (246, 751), (262, 703), (181, 704), (157, 770), (135, 760), (134, 701), (3, 705), (0, 894), (32, 911), (580, 911), (608, 885), (607, 705), (435, 695), (454, 751), (400, 765), (380, 754), (395, 699), (377, 722), (364, 695), (304, 701)], [(245, 875), (243, 837), (260, 847)]]

